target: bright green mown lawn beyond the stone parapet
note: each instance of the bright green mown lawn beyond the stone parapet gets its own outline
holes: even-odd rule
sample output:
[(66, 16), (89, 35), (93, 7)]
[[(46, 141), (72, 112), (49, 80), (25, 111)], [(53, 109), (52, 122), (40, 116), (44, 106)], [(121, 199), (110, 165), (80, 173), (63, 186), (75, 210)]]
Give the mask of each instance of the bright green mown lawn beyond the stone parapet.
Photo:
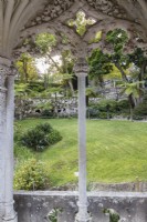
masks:
[[(77, 181), (77, 120), (24, 120), (21, 131), (49, 122), (63, 140), (42, 153), (17, 149), (18, 159), (35, 155), (46, 164), (52, 185)], [(147, 123), (87, 120), (88, 182), (147, 181)]]

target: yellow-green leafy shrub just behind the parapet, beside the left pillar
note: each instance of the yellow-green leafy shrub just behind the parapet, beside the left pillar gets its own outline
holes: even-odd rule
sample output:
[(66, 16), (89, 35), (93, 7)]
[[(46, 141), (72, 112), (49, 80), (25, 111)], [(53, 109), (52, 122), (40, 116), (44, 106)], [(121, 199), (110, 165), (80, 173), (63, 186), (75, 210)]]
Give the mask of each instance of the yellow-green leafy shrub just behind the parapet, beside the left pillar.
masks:
[(15, 190), (43, 190), (48, 185), (45, 165), (35, 159), (30, 159), (15, 169)]

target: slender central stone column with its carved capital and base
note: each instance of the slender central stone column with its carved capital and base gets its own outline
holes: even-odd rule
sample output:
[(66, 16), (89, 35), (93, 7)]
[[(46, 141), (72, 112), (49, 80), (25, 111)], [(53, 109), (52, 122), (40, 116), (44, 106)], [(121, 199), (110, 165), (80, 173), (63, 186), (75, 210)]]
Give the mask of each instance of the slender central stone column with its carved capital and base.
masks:
[(80, 58), (75, 68), (75, 74), (78, 81), (78, 213), (76, 222), (90, 222), (91, 216), (87, 213), (86, 194), (86, 75), (88, 67), (84, 58)]

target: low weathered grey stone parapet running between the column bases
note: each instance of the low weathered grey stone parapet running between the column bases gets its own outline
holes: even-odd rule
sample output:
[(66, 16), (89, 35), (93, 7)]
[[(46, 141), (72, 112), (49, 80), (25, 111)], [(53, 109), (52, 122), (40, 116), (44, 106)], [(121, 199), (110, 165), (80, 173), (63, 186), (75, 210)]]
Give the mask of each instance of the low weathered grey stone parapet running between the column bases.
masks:
[[(18, 222), (48, 222), (46, 215), (54, 208), (62, 209), (59, 222), (74, 222), (77, 212), (76, 192), (17, 192), (14, 200)], [(93, 222), (109, 222), (104, 209), (114, 209), (122, 222), (147, 222), (147, 193), (91, 192), (88, 203)]]

